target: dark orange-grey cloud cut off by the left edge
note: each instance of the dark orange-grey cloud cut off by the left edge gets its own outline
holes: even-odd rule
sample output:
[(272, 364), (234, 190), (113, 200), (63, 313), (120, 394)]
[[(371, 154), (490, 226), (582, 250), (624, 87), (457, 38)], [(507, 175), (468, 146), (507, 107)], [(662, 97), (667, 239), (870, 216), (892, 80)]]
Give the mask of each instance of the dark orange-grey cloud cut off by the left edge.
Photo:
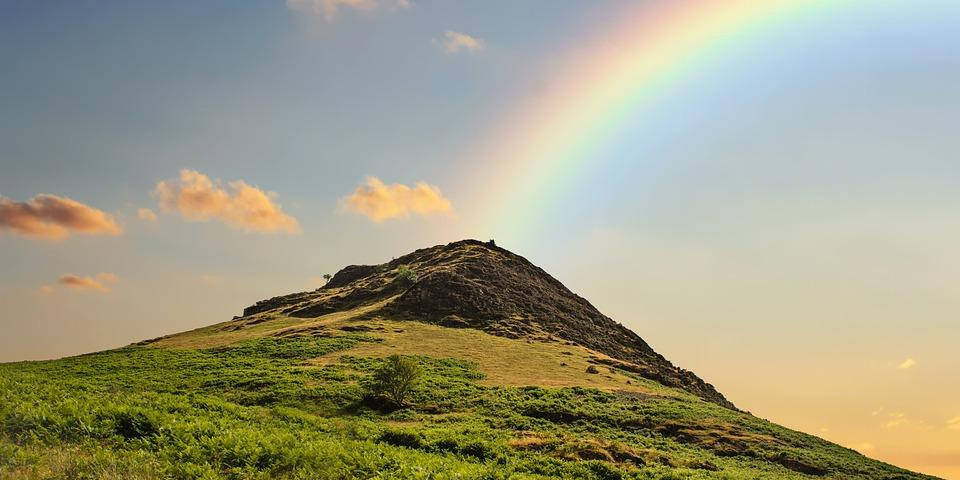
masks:
[(0, 230), (46, 240), (61, 240), (72, 234), (119, 235), (123, 232), (106, 212), (46, 193), (26, 202), (0, 197)]

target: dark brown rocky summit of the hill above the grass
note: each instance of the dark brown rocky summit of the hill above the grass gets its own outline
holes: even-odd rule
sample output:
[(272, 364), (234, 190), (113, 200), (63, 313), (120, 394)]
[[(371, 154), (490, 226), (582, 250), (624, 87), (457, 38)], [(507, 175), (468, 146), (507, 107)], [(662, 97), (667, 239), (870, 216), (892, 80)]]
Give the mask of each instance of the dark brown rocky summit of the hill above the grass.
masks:
[(244, 316), (316, 317), (373, 304), (373, 315), (581, 345), (618, 360), (620, 368), (735, 408), (712, 385), (675, 367), (527, 259), (476, 240), (417, 250), (381, 265), (348, 266), (317, 291), (258, 302)]

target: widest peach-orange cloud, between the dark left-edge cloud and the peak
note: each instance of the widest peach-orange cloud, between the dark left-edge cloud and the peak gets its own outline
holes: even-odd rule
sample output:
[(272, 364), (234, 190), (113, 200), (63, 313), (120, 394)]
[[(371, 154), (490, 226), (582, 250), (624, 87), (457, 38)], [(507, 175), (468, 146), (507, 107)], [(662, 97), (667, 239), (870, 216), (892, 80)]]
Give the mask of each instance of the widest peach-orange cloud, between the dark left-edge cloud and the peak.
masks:
[(276, 203), (277, 194), (265, 192), (243, 180), (229, 182), (229, 191), (220, 181), (195, 170), (180, 171), (180, 178), (157, 183), (154, 196), (164, 211), (177, 211), (192, 221), (219, 220), (248, 232), (297, 233), (296, 218)]

